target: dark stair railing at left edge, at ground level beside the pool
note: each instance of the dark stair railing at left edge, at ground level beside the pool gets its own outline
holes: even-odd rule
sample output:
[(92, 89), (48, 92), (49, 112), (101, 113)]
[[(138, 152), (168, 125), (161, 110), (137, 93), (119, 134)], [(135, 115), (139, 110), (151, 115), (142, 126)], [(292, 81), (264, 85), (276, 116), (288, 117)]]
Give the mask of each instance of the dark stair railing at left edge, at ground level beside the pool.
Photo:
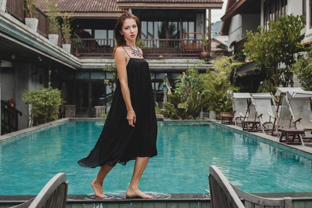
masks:
[(18, 130), (18, 114), (22, 115), (16, 108), (1, 100), (1, 135)]

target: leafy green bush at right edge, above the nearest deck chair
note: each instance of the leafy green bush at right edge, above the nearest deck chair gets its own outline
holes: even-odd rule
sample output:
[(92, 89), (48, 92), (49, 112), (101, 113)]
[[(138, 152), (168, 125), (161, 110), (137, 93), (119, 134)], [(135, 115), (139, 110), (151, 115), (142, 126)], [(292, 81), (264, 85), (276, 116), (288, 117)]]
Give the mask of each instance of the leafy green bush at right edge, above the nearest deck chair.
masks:
[(305, 55), (298, 55), (297, 62), (290, 70), (295, 73), (305, 90), (312, 91), (312, 49)]

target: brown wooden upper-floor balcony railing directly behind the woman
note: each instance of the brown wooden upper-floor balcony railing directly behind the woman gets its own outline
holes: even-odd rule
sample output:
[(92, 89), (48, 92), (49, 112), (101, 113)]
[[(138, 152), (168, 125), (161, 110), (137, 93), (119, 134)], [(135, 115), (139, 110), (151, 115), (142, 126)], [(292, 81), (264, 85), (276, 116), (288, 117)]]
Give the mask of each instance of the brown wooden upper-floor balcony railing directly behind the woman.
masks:
[[(202, 39), (142, 39), (145, 56), (199, 56)], [(79, 56), (111, 56), (114, 39), (74, 38), (73, 53)]]

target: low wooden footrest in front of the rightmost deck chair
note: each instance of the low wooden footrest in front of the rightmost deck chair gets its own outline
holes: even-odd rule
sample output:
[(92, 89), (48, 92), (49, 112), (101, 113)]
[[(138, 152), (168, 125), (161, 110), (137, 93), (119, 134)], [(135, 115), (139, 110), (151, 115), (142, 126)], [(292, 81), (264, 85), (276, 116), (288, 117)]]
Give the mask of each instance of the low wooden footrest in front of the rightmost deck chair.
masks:
[[(286, 142), (287, 144), (293, 144), (293, 145), (302, 144), (300, 135), (305, 134), (304, 130), (278, 128), (277, 131), (282, 133), (280, 136), (280, 142)], [(283, 139), (283, 137), (285, 138)], [(296, 139), (298, 139), (298, 141), (295, 142)]]

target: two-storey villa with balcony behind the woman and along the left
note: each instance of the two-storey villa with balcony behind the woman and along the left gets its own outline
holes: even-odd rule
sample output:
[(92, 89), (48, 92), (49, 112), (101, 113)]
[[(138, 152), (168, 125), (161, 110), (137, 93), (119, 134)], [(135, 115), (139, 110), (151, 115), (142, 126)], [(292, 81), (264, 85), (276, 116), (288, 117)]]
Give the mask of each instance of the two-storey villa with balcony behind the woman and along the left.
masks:
[[(21, 100), (24, 90), (48, 86), (61, 89), (66, 104), (76, 105), (79, 117), (93, 117), (95, 106), (105, 105), (109, 110), (114, 87), (114, 70), (109, 70), (114, 69), (113, 30), (124, 12), (131, 12), (141, 20), (140, 46), (150, 65), (155, 99), (160, 102), (162, 95), (158, 92), (162, 90), (164, 74), (173, 86), (174, 77), (200, 59), (203, 35), (210, 25), (206, 25), (206, 9), (221, 9), (223, 3), (222, 0), (55, 0), (60, 12), (69, 12), (72, 17), (71, 52), (66, 52), (60, 30), (56, 43), (48, 38), (48, 7), (44, 2), (36, 0), (38, 26), (31, 29), (25, 25), (23, 0), (0, 0), (0, 98), (12, 99), (14, 109), (22, 114), (16, 129), (27, 127), (27, 110)], [(206, 61), (198, 69), (205, 71), (211, 67)], [(1, 102), (2, 114), (5, 105)]]

